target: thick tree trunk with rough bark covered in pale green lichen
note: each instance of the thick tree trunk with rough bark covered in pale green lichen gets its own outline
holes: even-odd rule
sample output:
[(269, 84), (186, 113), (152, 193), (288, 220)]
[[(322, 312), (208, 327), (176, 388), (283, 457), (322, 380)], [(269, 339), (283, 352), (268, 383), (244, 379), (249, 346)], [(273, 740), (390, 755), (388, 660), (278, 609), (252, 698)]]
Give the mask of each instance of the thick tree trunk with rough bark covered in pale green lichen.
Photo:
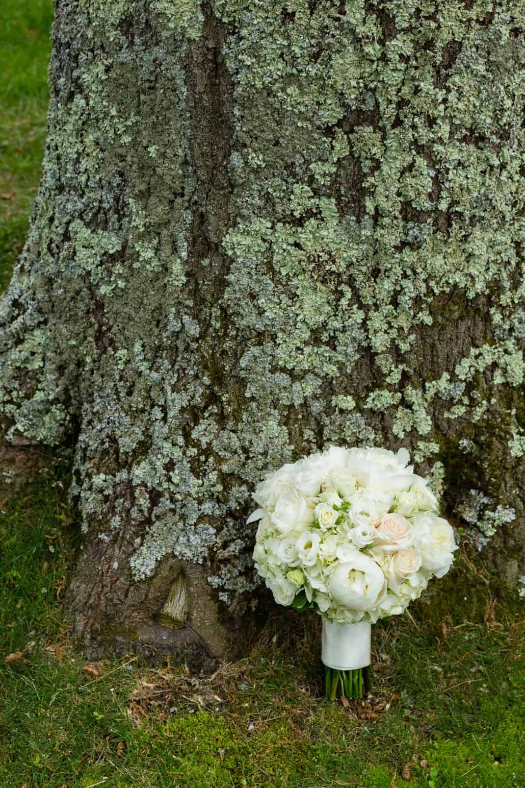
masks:
[(226, 652), (250, 491), (330, 443), (408, 446), (516, 585), (523, 5), (57, 0), (53, 39), (0, 407), (74, 436), (88, 651)]

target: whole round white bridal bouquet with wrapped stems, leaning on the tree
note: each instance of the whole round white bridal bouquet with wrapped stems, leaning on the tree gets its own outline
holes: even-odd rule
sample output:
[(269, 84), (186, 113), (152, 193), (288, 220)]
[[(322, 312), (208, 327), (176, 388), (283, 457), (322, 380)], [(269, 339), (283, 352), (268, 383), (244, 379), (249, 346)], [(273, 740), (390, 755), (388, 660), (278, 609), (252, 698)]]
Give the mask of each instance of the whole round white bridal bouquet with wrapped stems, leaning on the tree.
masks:
[(323, 618), (326, 695), (363, 697), (371, 625), (402, 613), (457, 550), (409, 452), (339, 448), (287, 463), (257, 485), (255, 567), (278, 604)]

